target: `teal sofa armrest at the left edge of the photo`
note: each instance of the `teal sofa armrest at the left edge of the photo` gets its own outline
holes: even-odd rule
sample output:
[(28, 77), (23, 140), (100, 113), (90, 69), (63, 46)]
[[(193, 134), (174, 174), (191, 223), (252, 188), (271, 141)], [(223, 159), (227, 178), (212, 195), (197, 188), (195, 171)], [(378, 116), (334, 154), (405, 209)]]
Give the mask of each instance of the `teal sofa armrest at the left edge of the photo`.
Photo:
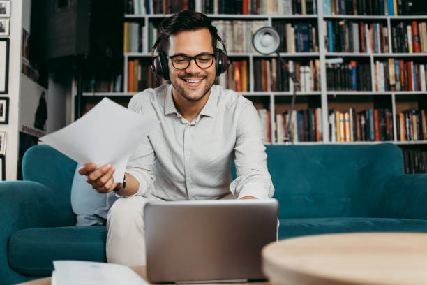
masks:
[(8, 265), (8, 238), (23, 228), (73, 226), (75, 216), (61, 207), (54, 190), (38, 182), (0, 182), (0, 276), (4, 284), (25, 278)]

